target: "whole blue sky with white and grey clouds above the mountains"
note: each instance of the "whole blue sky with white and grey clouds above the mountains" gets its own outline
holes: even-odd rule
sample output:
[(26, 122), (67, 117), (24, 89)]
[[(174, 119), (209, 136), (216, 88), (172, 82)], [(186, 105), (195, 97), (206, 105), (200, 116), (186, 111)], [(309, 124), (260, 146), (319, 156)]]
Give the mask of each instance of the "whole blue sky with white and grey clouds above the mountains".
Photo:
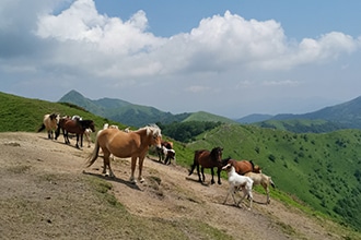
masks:
[(1, 0), (0, 92), (172, 113), (305, 113), (361, 95), (361, 1)]

